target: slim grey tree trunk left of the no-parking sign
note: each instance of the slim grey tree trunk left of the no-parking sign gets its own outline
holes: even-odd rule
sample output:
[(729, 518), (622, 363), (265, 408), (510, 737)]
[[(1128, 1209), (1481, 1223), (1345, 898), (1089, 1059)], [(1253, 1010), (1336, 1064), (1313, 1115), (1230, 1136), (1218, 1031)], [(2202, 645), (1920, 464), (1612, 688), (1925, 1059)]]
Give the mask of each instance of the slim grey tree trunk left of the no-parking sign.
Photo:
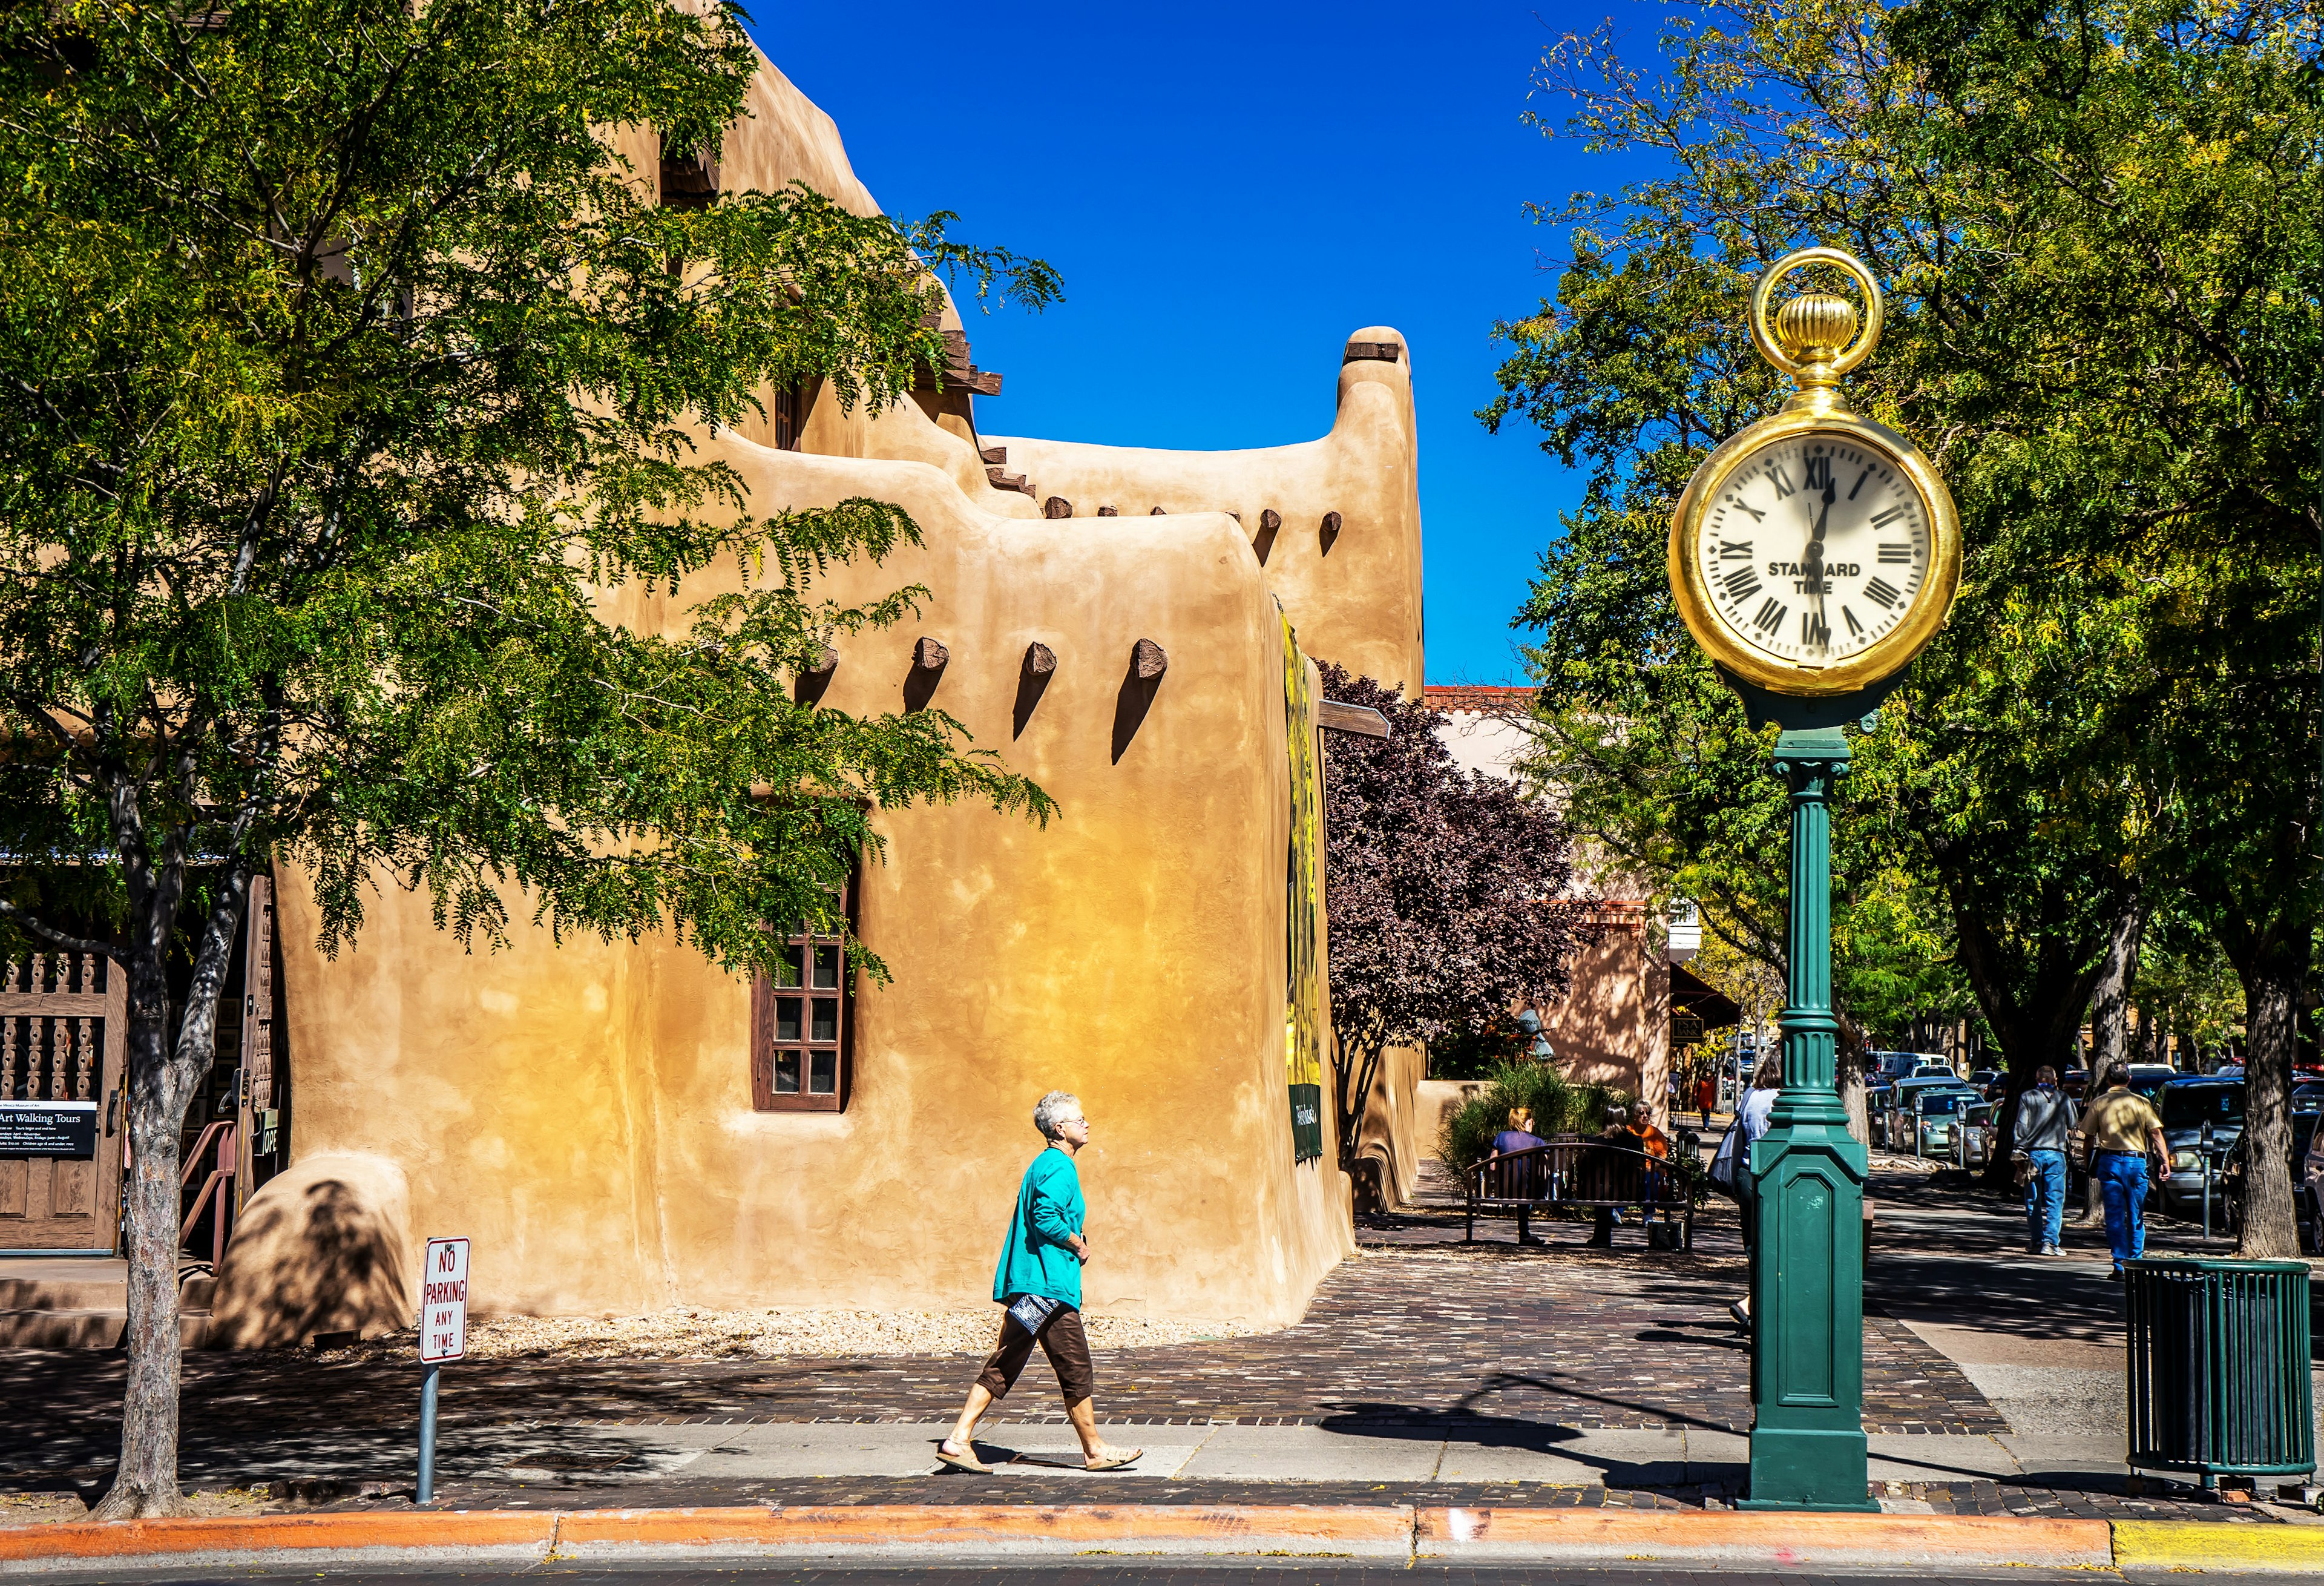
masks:
[(160, 951), (137, 953), (130, 977), (130, 1172), (128, 1209), (128, 1386), (121, 1395), (121, 1467), (91, 1519), (135, 1521), (184, 1514), (177, 1488), (177, 1205), (179, 1128), (186, 1091), (163, 1046), (170, 991)]

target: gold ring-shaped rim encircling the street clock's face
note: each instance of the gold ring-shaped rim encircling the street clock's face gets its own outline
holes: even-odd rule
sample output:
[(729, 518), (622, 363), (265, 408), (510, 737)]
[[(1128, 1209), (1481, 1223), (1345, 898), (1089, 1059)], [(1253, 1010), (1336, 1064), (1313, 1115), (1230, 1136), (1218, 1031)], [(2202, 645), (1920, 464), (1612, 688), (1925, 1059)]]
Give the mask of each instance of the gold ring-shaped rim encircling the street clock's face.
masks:
[[(1678, 600), (1678, 614), (1687, 621), (1687, 633), (1694, 635), (1694, 642), (1713, 660), (1769, 693), (1813, 700), (1834, 693), (1855, 693), (1892, 672), (1901, 672), (1936, 637), (1936, 630), (1945, 626), (1945, 616), (1952, 609), (1952, 591), (1961, 581), (1961, 519), (1952, 509), (1952, 493), (1945, 491), (1945, 481), (1936, 477), (1929, 458), (1920, 456), (1913, 442), (1885, 423), (1873, 423), (1848, 412), (1829, 391), (1803, 395), (1808, 398), (1806, 405), (1738, 430), (1694, 470), (1694, 479), (1687, 481), (1685, 493), (1678, 498), (1678, 512), (1671, 514), (1671, 593)], [(1801, 398), (1792, 398), (1792, 402), (1801, 402)], [(1720, 498), (1736, 465), (1769, 442), (1799, 435), (1831, 435), (1834, 440), (1878, 451), (1903, 470), (1929, 512), (1929, 581), (1920, 600), (1913, 602), (1910, 616), (1862, 653), (1829, 667), (1773, 660), (1745, 644), (1710, 602), (1710, 591), (1703, 586), (1703, 565), (1694, 553), (1710, 502)]]

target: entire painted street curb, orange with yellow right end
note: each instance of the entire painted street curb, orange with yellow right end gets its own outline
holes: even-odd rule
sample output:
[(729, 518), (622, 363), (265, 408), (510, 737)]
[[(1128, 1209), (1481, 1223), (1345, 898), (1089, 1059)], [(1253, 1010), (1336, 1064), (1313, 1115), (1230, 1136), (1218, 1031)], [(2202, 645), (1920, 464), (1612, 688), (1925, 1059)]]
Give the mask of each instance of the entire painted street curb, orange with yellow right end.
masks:
[(1090, 1556), (2324, 1572), (2324, 1526), (1408, 1505), (837, 1505), (562, 1514), (404, 1509), (0, 1530), (0, 1577), (74, 1572), (91, 1565), (311, 1570), (551, 1560), (925, 1563)]

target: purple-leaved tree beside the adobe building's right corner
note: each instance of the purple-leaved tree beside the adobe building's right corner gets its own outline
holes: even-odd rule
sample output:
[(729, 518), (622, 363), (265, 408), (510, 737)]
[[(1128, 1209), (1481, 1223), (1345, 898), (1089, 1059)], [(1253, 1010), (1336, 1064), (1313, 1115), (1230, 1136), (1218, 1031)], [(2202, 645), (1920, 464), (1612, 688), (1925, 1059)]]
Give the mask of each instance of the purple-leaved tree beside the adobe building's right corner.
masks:
[(1566, 898), (1557, 812), (1462, 770), (1434, 709), (1329, 663), (1322, 686), (1390, 726), (1385, 740), (1325, 733), (1339, 1158), (1355, 1172), (1380, 1053), (1564, 993), (1590, 905)]

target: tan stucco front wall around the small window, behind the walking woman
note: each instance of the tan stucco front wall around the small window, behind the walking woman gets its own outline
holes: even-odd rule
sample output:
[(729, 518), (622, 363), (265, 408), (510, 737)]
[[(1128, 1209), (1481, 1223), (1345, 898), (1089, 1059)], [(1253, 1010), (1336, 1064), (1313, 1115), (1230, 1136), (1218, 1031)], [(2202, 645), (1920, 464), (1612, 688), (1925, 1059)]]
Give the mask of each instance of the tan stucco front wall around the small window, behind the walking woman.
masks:
[[(913, 640), (934, 635), (953, 653), (934, 702), (1006, 746), (1064, 819), (881, 819), (890, 856), (865, 877), (860, 930), (897, 981), (858, 995), (844, 1114), (751, 1109), (748, 993), (690, 949), (528, 930), (462, 956), (421, 900), (388, 893), (337, 960), (286, 951), (297, 1160), (395, 1163), (407, 1244), (476, 1239), (479, 1309), (951, 1307), (990, 1295), (1039, 1149), (1032, 1102), (1062, 1086), (1095, 1123), (1092, 1309), (1297, 1319), (1353, 1249), (1348, 1186), (1292, 1165), (1281, 640), (1232, 519), (1092, 544), (1074, 523), (985, 519), (927, 467), (727, 449), (760, 500), (874, 493), (927, 535), (832, 588), (937, 593), (918, 623), (841, 642), (825, 702), (895, 709)], [(674, 623), (718, 586), (627, 616)], [(1169, 672), (1116, 763), (1141, 637)], [(1057, 674), (1011, 742), (1032, 640)], [(281, 921), (286, 949), (314, 937), (295, 881)], [(251, 1226), (279, 1221), (272, 1193)], [(237, 1270), (244, 1291), (277, 1277)]]

